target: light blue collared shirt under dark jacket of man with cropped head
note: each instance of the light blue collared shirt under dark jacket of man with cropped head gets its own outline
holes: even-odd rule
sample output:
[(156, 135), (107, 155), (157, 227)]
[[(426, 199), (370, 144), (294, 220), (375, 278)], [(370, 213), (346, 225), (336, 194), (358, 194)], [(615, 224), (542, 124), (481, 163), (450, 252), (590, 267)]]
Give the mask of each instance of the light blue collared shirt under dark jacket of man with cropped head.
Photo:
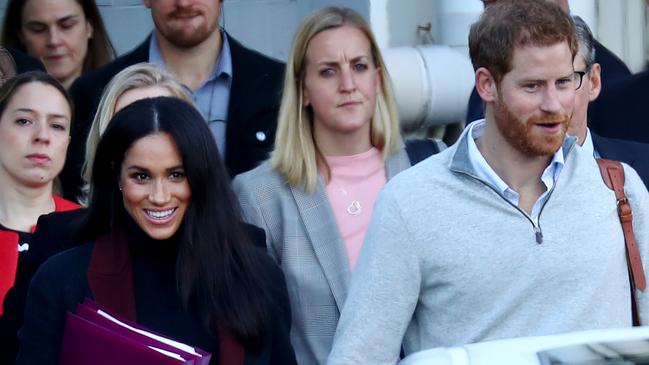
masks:
[[(221, 53), (214, 65), (214, 70), (197, 90), (192, 91), (192, 97), (201, 114), (207, 120), (207, 125), (216, 140), (221, 157), (225, 158), (225, 127), (228, 120), (230, 88), (232, 86), (232, 53), (228, 37), (223, 30), (220, 32)], [(149, 42), (149, 62), (167, 68), (162, 59), (158, 42), (156, 42), (155, 33)]]

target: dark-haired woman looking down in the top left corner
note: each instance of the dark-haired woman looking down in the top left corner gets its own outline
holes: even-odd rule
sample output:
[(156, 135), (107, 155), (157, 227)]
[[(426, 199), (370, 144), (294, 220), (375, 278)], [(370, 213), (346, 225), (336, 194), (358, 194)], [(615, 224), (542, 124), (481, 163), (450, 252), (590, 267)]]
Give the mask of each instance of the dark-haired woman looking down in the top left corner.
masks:
[(9, 0), (0, 44), (40, 59), (66, 89), (115, 57), (95, 0)]

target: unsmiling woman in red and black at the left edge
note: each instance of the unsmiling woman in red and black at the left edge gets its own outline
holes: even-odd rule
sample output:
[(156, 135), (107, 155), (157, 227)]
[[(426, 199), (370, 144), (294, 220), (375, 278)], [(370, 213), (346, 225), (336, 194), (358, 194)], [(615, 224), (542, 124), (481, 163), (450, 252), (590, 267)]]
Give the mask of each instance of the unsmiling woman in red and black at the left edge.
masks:
[[(7, 74), (7, 69), (2, 70)], [(0, 79), (2, 77), (0, 76)], [(2, 84), (3, 80), (0, 80)], [(13, 364), (27, 287), (43, 247), (33, 241), (41, 215), (79, 205), (55, 194), (70, 141), (72, 102), (44, 72), (0, 87), (0, 364)]]

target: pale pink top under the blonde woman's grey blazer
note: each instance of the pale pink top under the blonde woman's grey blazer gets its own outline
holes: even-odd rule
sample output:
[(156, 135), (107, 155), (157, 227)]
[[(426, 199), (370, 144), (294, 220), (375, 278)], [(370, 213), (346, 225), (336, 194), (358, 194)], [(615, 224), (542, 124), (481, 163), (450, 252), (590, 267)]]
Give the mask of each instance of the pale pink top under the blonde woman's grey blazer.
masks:
[(372, 218), (374, 202), (385, 185), (385, 163), (381, 151), (372, 147), (352, 156), (326, 156), (331, 180), (325, 186), (329, 203), (342, 235), (349, 267), (356, 266), (358, 254)]

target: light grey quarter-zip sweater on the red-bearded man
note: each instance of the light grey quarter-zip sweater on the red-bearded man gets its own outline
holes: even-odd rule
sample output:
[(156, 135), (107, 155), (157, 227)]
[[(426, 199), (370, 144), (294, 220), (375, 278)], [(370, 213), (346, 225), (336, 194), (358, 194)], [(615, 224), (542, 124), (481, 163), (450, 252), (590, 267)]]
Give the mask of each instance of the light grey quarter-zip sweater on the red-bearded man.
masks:
[[(439, 346), (631, 326), (613, 191), (568, 137), (538, 226), (486, 182), (467, 133), (379, 195), (328, 364), (394, 364)], [(624, 165), (634, 231), (649, 267), (649, 194)], [(649, 296), (639, 293), (641, 320)]]

